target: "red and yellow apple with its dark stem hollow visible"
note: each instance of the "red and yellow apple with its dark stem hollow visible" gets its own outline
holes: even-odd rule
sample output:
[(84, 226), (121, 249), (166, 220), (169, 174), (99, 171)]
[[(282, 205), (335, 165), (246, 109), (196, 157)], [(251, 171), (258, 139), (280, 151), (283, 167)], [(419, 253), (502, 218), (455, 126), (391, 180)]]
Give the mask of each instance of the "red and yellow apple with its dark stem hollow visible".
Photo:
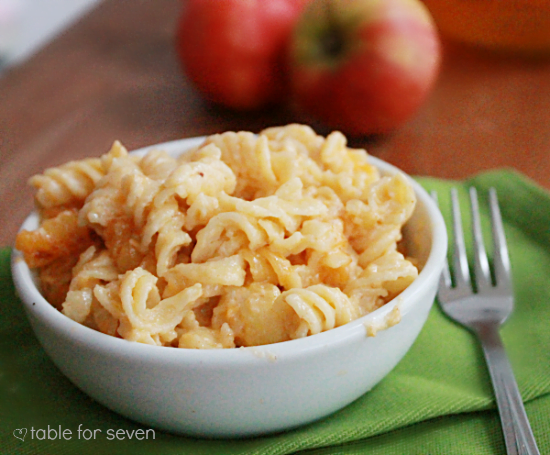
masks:
[(424, 102), (440, 41), (418, 0), (313, 0), (293, 31), (291, 90), (299, 108), (349, 135), (386, 133)]

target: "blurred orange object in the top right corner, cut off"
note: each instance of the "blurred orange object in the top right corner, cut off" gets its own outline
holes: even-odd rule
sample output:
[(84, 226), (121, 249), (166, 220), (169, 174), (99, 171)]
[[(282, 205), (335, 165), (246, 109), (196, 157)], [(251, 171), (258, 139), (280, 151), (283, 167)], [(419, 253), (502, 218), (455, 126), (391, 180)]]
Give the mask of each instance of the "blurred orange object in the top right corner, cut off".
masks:
[(442, 35), (484, 47), (550, 53), (550, 0), (423, 0)]

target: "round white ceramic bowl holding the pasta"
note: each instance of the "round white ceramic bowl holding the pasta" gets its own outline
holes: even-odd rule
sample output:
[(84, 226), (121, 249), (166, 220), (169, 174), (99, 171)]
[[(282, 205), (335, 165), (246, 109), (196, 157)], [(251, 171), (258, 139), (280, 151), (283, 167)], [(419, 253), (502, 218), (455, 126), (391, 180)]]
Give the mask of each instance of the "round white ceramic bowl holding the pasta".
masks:
[[(154, 148), (179, 154), (202, 139)], [(376, 158), (370, 161), (383, 174), (398, 172)], [(42, 297), (17, 251), (13, 278), (47, 354), (76, 386), (113, 411), (148, 426), (195, 436), (286, 430), (327, 416), (368, 392), (397, 365), (422, 329), (443, 267), (447, 234), (432, 199), (410, 182), (418, 203), (405, 238), (410, 254), (422, 264), (418, 278), (373, 313), (298, 340), (220, 350), (134, 343), (96, 332), (57, 311)], [(31, 214), (22, 228), (37, 225), (37, 215)], [(384, 330), (395, 307), (401, 321)], [(379, 331), (373, 337), (367, 336), (367, 329)]]

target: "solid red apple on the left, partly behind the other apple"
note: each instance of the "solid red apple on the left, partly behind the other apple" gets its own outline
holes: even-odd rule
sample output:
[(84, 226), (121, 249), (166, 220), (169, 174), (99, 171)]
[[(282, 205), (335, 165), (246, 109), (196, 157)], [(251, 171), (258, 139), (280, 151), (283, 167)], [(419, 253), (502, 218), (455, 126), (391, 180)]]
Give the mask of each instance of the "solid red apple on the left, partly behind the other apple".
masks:
[(187, 0), (176, 46), (209, 100), (254, 109), (284, 94), (287, 40), (309, 0)]

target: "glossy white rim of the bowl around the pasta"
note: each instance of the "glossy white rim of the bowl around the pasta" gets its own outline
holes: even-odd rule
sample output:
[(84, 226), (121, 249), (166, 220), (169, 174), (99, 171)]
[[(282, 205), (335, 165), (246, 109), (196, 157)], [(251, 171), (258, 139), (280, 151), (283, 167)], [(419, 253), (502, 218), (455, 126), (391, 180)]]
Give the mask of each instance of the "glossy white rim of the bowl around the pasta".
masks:
[[(144, 155), (148, 151), (154, 149), (165, 150), (169, 154), (184, 153), (186, 150), (201, 144), (205, 137), (206, 136), (198, 136), (163, 142), (139, 148), (131, 153)], [(262, 346), (204, 350), (165, 349), (164, 346), (147, 345), (106, 335), (73, 321), (62, 314), (41, 295), (35, 285), (33, 274), (23, 259), (22, 253), (15, 248), (13, 249), (11, 259), (14, 284), (16, 285), (16, 289), (26, 311), (35, 315), (41, 321), (47, 322), (51, 329), (58, 331), (67, 338), (73, 339), (75, 342), (84, 343), (105, 353), (112, 353), (113, 355), (114, 353), (119, 353), (128, 359), (143, 358), (147, 356), (150, 359), (158, 359), (159, 361), (179, 360), (219, 366), (228, 363), (235, 364), (235, 362), (248, 363), (250, 361), (257, 361), (258, 359), (273, 361), (290, 355), (293, 358), (301, 358), (304, 355), (308, 355), (312, 350), (326, 349), (329, 345), (337, 346), (342, 343), (347, 343), (350, 339), (356, 339), (357, 337), (367, 338), (366, 327), (371, 324), (374, 326), (380, 326), (381, 323), (383, 324), (383, 321), (386, 320), (390, 312), (392, 312), (396, 306), (399, 307), (401, 316), (411, 311), (424, 292), (424, 286), (434, 279), (434, 274), (439, 275), (441, 273), (443, 261), (447, 254), (447, 231), (445, 222), (434, 200), (419, 183), (396, 166), (373, 157), (370, 154), (368, 155), (368, 159), (369, 162), (381, 170), (383, 174), (391, 175), (400, 173), (411, 184), (417, 197), (417, 204), (420, 202), (427, 212), (427, 219), (430, 221), (428, 228), (432, 235), (432, 245), (424, 267), (409, 287), (381, 308), (343, 326), (296, 340)], [(33, 211), (23, 222), (20, 230), (35, 229), (37, 222), (38, 214), (36, 211)]]

